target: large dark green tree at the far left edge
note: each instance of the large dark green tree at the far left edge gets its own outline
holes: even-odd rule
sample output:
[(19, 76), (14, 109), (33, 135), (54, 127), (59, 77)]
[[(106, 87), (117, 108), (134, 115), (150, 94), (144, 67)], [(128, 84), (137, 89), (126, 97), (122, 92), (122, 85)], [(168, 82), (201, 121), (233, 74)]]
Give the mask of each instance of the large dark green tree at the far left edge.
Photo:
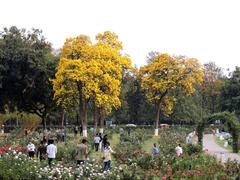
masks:
[(49, 78), (55, 74), (57, 60), (40, 30), (4, 28), (0, 34), (0, 105), (35, 113), (46, 126), (54, 107)]

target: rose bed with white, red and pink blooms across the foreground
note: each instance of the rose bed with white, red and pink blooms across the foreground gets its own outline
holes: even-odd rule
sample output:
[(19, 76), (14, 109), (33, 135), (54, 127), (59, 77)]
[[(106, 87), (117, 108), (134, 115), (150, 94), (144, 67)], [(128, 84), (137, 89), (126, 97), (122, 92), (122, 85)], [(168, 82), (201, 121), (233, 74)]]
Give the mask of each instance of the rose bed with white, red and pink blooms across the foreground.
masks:
[[(235, 179), (240, 177), (240, 164), (229, 161), (225, 164), (205, 155), (195, 145), (184, 145), (189, 130), (168, 129), (160, 134), (160, 153), (157, 156), (142, 149), (151, 131), (136, 129), (122, 133), (115, 150), (113, 168), (103, 172), (102, 160), (90, 159), (77, 168), (74, 160), (76, 139), (57, 144), (58, 153), (52, 168), (46, 161), (30, 160), (26, 155), (26, 137), (8, 137), (1, 143), (0, 179)], [(111, 133), (109, 133), (111, 134)], [(93, 135), (90, 137), (92, 138)], [(27, 137), (27, 138), (36, 138)], [(8, 140), (9, 140), (8, 139)], [(177, 143), (182, 143), (184, 154), (175, 155)], [(89, 145), (91, 148), (91, 145)]]

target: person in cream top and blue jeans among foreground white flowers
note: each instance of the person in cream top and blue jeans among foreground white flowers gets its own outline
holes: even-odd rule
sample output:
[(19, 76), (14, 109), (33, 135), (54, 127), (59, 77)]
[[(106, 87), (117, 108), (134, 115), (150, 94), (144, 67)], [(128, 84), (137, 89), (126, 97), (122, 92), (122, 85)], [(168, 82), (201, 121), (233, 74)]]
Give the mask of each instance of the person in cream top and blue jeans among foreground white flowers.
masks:
[(114, 153), (114, 151), (110, 147), (110, 143), (106, 142), (106, 146), (103, 150), (103, 171), (111, 169), (112, 153)]

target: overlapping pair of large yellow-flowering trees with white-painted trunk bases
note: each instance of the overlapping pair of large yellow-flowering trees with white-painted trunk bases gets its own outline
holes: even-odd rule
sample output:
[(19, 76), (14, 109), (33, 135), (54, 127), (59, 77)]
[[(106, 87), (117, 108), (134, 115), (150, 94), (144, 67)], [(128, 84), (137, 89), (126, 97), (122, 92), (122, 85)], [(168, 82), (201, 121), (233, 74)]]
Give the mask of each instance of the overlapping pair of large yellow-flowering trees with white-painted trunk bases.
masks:
[(131, 64), (128, 56), (120, 53), (122, 46), (117, 35), (107, 31), (96, 39), (96, 44), (83, 35), (67, 39), (53, 80), (57, 104), (65, 109), (78, 106), (83, 136), (87, 136), (90, 101), (99, 108), (100, 117), (121, 105), (121, 80), (124, 69)]

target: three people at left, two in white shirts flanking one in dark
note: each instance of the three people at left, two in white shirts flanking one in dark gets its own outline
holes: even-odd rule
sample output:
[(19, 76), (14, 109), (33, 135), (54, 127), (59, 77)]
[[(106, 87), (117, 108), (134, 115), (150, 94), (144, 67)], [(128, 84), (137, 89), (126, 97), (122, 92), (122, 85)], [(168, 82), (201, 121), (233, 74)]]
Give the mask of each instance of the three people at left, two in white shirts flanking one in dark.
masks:
[(53, 139), (49, 139), (48, 142), (45, 139), (42, 140), (37, 148), (30, 141), (27, 145), (27, 151), (30, 159), (33, 159), (36, 154), (40, 161), (48, 158), (48, 164), (51, 166), (52, 161), (56, 158), (57, 146), (54, 145)]

